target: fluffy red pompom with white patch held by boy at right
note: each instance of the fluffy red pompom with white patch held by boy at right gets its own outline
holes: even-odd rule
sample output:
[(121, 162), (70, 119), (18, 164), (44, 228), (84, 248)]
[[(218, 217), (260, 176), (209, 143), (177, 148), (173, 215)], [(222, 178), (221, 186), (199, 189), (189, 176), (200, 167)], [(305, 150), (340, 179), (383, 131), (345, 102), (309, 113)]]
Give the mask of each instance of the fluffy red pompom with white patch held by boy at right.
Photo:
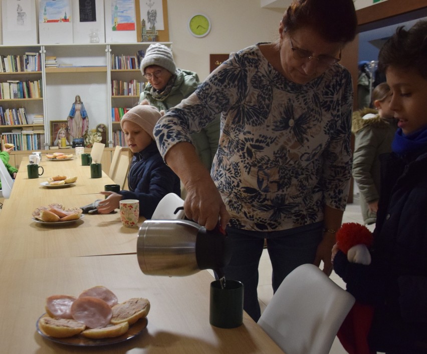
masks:
[(371, 255), (368, 247), (372, 245), (372, 233), (369, 229), (355, 222), (346, 222), (336, 233), (337, 247), (347, 255), (352, 263), (368, 265)]

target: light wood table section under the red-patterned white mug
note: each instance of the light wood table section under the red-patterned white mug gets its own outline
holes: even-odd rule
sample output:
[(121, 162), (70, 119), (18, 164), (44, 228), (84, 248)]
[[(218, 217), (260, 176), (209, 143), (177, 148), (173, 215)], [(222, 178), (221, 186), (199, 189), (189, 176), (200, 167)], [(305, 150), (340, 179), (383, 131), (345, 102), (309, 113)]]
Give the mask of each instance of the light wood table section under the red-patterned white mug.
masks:
[[(15, 188), (15, 186), (13, 187)], [(53, 195), (15, 194), (7, 199), (0, 213), (2, 236), (0, 259), (73, 257), (136, 252), (138, 227), (124, 227), (118, 210), (111, 214), (83, 214), (67, 225), (45, 225), (33, 220), (40, 206), (60, 203), (66, 209), (81, 207), (104, 198), (101, 194)], [(140, 226), (144, 218), (141, 217)], [(6, 226), (7, 225), (7, 226)]]

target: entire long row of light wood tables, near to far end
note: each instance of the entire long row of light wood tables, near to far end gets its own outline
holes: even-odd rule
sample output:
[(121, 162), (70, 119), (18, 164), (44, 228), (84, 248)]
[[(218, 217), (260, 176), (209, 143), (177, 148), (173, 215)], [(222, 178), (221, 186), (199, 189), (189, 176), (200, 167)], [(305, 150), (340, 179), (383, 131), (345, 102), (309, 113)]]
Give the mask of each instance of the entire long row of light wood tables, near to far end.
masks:
[[(26, 165), (20, 167), (11, 198), (5, 200), (0, 212), (2, 352), (282, 353), (246, 313), (238, 328), (209, 324), (209, 284), (213, 278), (207, 271), (187, 277), (144, 275), (135, 254), (138, 228), (123, 227), (118, 213), (85, 214), (84, 219), (59, 227), (34, 222), (35, 208), (50, 203), (66, 208), (90, 204), (103, 198), (96, 193), (112, 181), (105, 175), (89, 178), (89, 167), (76, 160), (43, 161), (44, 176), (61, 171), (78, 175), (78, 180), (75, 187), (40, 188), (45, 179), (28, 179)], [(119, 301), (148, 298), (147, 328), (128, 341), (97, 348), (58, 344), (36, 331), (47, 296), (77, 296), (95, 285), (110, 288)]]

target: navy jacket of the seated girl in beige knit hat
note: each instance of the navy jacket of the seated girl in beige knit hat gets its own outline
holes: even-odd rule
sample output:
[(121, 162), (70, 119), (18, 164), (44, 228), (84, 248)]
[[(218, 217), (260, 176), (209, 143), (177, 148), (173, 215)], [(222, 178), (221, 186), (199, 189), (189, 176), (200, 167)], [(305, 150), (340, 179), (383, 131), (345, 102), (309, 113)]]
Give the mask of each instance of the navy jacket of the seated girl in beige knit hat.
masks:
[(122, 190), (120, 194), (123, 199), (138, 199), (139, 215), (147, 219), (166, 194), (181, 195), (179, 178), (164, 163), (154, 141), (133, 156), (128, 185), (129, 191)]

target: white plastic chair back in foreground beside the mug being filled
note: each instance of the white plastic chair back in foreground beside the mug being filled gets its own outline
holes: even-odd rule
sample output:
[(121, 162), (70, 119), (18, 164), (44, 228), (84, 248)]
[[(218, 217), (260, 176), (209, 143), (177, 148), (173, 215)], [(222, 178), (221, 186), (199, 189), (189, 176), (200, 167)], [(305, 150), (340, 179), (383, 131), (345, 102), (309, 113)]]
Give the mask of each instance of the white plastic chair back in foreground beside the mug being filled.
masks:
[(354, 297), (313, 264), (295, 268), (267, 305), (258, 324), (292, 354), (328, 354)]

